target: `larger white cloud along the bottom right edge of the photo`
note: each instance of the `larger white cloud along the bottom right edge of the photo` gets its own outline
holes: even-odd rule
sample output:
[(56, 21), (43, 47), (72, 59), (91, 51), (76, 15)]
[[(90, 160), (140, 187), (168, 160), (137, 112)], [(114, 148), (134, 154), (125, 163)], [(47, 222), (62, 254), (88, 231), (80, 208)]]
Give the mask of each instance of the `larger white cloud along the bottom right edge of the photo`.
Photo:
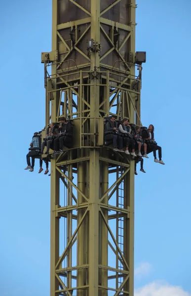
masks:
[(179, 286), (171, 286), (160, 281), (135, 289), (134, 296), (191, 296)]

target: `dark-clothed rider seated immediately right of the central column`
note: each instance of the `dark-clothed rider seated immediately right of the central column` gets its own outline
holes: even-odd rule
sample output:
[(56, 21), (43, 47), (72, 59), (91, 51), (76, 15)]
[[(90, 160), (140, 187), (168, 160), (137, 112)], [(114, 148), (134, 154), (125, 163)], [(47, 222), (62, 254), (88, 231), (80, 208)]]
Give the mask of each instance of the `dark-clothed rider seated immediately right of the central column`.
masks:
[[(111, 134), (108, 134), (107, 132), (111, 132)], [(119, 135), (119, 130), (117, 128), (117, 124), (115, 121), (115, 116), (110, 116), (110, 119), (106, 123), (106, 132), (105, 137), (107, 138), (107, 135), (112, 135), (113, 144), (114, 144), (114, 151), (123, 151), (123, 139)]]

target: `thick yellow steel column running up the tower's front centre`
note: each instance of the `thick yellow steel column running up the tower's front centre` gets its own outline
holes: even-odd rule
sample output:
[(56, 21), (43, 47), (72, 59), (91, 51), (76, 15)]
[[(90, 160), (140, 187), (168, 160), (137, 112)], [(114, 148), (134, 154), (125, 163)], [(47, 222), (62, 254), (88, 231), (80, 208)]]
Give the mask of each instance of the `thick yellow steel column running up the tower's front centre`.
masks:
[[(91, 1), (91, 39), (100, 42), (100, 0)], [(90, 54), (90, 71), (99, 66), (99, 54)], [(90, 82), (90, 117), (99, 116), (99, 86), (96, 77)], [(97, 124), (97, 122), (96, 122)], [(90, 120), (90, 133), (95, 131), (95, 119)], [(95, 137), (93, 138), (95, 141)], [(89, 296), (98, 296), (98, 268), (99, 268), (99, 199), (100, 199), (100, 164), (99, 150), (90, 149), (89, 161)], [(93, 256), (92, 256), (93, 254)]]

